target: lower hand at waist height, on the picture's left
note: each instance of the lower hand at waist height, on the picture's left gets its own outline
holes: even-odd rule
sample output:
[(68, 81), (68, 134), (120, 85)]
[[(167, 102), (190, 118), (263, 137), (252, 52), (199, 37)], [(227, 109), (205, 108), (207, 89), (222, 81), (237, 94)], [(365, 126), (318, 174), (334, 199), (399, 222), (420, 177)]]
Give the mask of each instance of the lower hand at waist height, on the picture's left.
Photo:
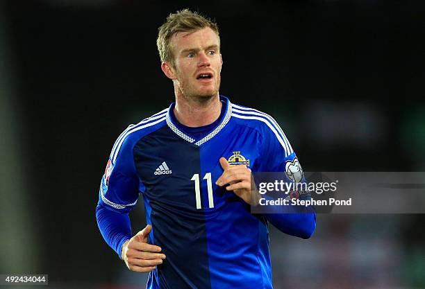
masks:
[(161, 247), (147, 243), (147, 236), (151, 230), (151, 225), (147, 225), (122, 245), (122, 259), (128, 269), (141, 273), (151, 272), (156, 269), (156, 265), (163, 263), (165, 254), (159, 253)]

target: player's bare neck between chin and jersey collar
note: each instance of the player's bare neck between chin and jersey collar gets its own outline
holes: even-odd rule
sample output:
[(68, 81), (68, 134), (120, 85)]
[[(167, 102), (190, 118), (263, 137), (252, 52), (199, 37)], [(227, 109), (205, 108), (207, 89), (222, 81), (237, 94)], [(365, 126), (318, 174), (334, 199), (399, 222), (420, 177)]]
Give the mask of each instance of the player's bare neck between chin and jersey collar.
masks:
[(196, 128), (216, 121), (222, 112), (219, 95), (206, 99), (176, 97), (174, 115), (179, 123)]

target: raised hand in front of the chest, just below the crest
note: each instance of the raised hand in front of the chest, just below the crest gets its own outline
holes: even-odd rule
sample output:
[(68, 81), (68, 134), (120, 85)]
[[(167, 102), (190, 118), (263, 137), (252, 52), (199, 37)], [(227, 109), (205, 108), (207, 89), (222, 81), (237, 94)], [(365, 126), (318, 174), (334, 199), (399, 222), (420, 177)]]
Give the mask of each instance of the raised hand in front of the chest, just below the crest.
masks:
[(227, 191), (233, 191), (239, 198), (252, 206), (258, 204), (259, 194), (251, 192), (251, 170), (245, 165), (231, 166), (224, 157), (220, 157), (224, 172), (217, 179), (217, 186), (226, 186)]

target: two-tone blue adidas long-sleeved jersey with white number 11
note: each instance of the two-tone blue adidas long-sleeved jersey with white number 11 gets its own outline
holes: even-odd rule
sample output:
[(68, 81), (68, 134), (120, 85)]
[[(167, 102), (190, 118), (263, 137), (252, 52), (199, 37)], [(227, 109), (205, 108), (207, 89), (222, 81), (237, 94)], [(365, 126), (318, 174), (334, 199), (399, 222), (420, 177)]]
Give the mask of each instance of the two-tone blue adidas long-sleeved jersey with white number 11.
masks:
[[(219, 158), (253, 172), (283, 172), (297, 157), (271, 116), (232, 104), (210, 132), (194, 137), (166, 110), (130, 125), (117, 139), (101, 179), (97, 220), (120, 255), (131, 238), (128, 212), (143, 198), (149, 243), (163, 248), (164, 263), (147, 288), (272, 288), (268, 223), (308, 238), (314, 212), (300, 216), (252, 214), (249, 204), (215, 181)], [(295, 214), (294, 214), (295, 215)]]

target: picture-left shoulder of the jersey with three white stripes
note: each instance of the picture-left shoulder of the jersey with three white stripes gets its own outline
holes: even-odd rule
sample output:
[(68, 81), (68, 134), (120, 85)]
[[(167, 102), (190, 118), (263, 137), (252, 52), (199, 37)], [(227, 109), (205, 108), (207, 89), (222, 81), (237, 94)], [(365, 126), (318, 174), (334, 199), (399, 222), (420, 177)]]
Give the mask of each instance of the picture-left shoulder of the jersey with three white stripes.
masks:
[(147, 134), (162, 128), (166, 124), (168, 108), (143, 119), (137, 124), (128, 125), (126, 130), (119, 134), (114, 143), (113, 150), (110, 152), (110, 160), (115, 163), (117, 155), (122, 150), (132, 150), (135, 143)]

